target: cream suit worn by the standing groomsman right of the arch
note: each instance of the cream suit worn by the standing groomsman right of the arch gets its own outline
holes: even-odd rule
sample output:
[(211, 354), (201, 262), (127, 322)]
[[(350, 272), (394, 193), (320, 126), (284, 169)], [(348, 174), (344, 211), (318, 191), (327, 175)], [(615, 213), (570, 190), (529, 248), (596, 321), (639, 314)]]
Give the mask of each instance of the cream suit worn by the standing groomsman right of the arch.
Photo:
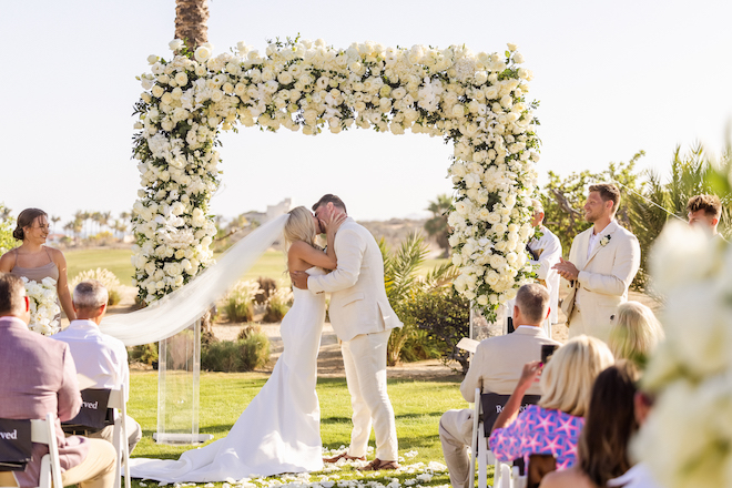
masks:
[(607, 342), (618, 305), (628, 301), (628, 287), (638, 273), (640, 245), (614, 220), (589, 250), (592, 233), (590, 227), (572, 241), (569, 261), (579, 270), (579, 276), (570, 282), (561, 308), (568, 317), (570, 337), (587, 334)]

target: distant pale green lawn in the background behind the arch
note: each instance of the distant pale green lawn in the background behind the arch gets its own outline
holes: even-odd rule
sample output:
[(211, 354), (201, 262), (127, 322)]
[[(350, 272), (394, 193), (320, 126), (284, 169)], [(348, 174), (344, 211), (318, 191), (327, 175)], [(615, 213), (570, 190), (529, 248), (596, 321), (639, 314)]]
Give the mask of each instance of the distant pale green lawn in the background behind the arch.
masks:
[[(67, 264), (69, 265), (69, 279), (73, 279), (82, 271), (96, 270), (105, 267), (114, 273), (123, 285), (132, 285), (132, 252), (130, 250), (81, 250), (67, 251), (64, 253)], [(424, 276), (435, 266), (444, 263), (446, 260), (427, 260), (420, 267), (420, 274)], [(252, 268), (242, 276), (242, 279), (256, 279), (260, 276), (267, 276), (273, 279), (286, 279), (289, 276), (285, 274), (285, 256), (279, 251), (267, 251), (252, 266)]]

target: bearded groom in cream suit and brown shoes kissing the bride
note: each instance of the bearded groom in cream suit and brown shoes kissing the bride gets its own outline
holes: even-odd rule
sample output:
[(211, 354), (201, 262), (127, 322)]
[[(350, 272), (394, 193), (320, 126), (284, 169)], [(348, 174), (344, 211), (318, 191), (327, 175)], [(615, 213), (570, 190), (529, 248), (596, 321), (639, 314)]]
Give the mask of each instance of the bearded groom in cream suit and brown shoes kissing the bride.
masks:
[[(313, 211), (321, 222), (334, 214), (347, 215), (346, 205), (332, 194), (324, 195)], [(376, 459), (362, 470), (396, 469), (396, 425), (386, 393), (386, 344), (392, 329), (403, 324), (386, 297), (384, 260), (374, 236), (347, 217), (336, 233), (334, 246), (338, 265), (332, 273), (309, 277), (303, 272), (291, 273), (294, 286), (332, 294), (331, 323), (342, 342), (354, 428), (348, 451), (324, 460), (365, 460), (373, 423)]]

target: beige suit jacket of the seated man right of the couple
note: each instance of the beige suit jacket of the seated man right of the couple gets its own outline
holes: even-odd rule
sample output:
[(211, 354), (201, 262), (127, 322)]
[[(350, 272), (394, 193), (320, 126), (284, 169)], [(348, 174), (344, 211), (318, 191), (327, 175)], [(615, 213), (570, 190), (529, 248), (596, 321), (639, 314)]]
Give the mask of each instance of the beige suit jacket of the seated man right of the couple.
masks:
[[(482, 393), (512, 394), (523, 365), (541, 359), (543, 344), (561, 346), (547, 337), (541, 327), (533, 326), (521, 326), (511, 334), (481, 340), (460, 384), (462, 397), (474, 403), (478, 387)], [(527, 394), (541, 395), (539, 384), (532, 385)]]

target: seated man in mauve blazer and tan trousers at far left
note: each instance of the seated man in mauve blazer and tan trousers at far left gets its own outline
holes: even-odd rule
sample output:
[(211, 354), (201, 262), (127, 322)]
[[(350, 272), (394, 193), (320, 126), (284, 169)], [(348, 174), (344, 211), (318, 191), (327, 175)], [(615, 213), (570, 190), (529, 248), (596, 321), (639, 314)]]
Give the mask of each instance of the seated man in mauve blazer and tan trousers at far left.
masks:
[[(28, 329), (30, 303), (23, 282), (0, 273), (0, 417), (43, 419), (52, 413), (63, 486), (111, 488), (116, 455), (111, 444), (67, 438), (61, 421), (77, 416), (81, 394), (69, 346)], [(33, 444), (24, 471), (0, 472), (0, 486), (35, 487), (48, 446)]]

